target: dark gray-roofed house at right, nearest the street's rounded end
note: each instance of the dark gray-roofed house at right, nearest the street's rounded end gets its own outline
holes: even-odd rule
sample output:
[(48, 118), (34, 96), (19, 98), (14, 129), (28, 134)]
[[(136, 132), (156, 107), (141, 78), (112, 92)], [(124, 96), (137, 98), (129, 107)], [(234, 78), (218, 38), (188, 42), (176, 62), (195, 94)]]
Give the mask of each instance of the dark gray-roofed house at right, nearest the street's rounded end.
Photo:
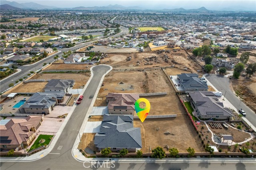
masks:
[(185, 92), (187, 91), (208, 91), (208, 85), (202, 83), (198, 78), (198, 74), (195, 73), (181, 73), (177, 75), (180, 80), (181, 87)]

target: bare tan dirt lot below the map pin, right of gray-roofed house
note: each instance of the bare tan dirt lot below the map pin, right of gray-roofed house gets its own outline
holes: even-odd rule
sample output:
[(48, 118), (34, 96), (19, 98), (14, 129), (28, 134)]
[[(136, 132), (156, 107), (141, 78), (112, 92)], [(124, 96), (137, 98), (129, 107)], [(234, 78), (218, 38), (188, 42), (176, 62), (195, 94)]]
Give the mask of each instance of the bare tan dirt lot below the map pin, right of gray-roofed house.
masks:
[[(194, 148), (196, 152), (204, 151), (201, 141), (196, 137), (198, 136), (196, 131), (186, 116), (146, 119), (143, 123), (139, 119), (134, 119), (134, 127), (141, 128), (142, 152), (148, 152), (149, 146), (153, 149), (165, 145), (171, 148), (175, 147), (179, 152), (186, 152), (188, 147)], [(159, 128), (159, 130), (156, 130), (156, 128)], [(171, 134), (165, 135), (164, 132), (166, 131)], [(166, 150), (166, 152), (168, 151)]]

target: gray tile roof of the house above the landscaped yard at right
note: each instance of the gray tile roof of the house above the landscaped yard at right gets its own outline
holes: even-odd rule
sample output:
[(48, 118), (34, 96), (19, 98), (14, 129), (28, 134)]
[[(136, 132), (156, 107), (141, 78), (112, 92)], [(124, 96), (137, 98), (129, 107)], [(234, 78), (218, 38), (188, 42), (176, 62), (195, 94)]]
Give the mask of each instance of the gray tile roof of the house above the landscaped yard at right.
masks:
[(194, 91), (188, 94), (196, 103), (198, 111), (203, 116), (233, 116), (232, 111), (224, 108), (223, 103), (214, 97), (214, 93), (211, 93), (210, 91)]

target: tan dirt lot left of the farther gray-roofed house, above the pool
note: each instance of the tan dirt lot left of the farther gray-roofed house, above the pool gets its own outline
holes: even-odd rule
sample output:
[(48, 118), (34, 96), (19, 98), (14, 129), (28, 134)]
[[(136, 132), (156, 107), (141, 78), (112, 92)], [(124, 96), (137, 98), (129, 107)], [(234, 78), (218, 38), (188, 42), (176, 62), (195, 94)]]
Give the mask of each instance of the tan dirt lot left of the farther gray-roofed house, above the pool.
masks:
[(29, 83), (23, 83), (17, 88), (13, 88), (10, 93), (35, 93), (35, 92), (43, 92), (44, 91), (44, 86), (48, 82), (29, 82)]

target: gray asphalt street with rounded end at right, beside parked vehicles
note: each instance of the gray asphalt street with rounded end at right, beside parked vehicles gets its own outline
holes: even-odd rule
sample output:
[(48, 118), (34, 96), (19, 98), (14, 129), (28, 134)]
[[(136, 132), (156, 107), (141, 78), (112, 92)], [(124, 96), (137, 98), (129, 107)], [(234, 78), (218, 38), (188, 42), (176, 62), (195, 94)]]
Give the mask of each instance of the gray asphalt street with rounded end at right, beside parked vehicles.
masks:
[(240, 99), (230, 90), (230, 79), (219, 74), (210, 74), (206, 75), (206, 78), (218, 89), (221, 91), (225, 98), (236, 107), (236, 109), (243, 109), (246, 112), (246, 119), (256, 127), (256, 114), (252, 109), (246, 106), (243, 102), (240, 102)]

